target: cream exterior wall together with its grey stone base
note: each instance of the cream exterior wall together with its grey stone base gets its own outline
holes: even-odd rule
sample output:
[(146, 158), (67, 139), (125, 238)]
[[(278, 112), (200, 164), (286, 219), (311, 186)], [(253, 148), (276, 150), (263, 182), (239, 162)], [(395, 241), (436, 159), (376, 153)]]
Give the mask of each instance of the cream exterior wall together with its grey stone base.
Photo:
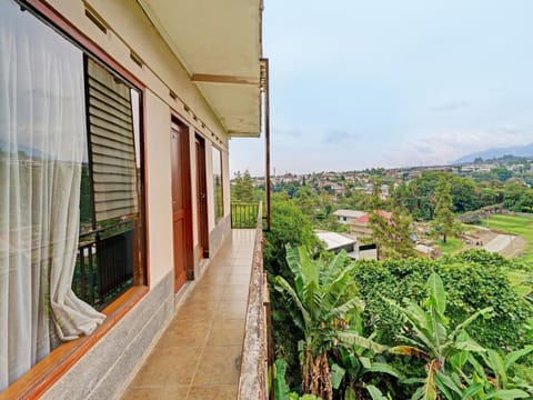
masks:
[[(205, 138), (210, 250), (214, 256), (231, 229), (228, 138), (187, 71), (131, 0), (86, 0), (109, 29), (99, 30), (84, 14), (84, 2), (50, 0), (49, 3), (121, 67), (139, 79), (143, 91), (143, 133), (147, 186), (149, 293), (122, 318), (43, 396), (44, 399), (112, 399), (137, 372), (153, 341), (173, 314), (173, 231), (171, 193), (171, 116), (190, 129), (193, 243), (198, 244), (194, 132)], [(133, 50), (145, 62), (131, 58)], [(171, 98), (169, 90), (178, 94)], [(185, 108), (187, 104), (187, 108)], [(194, 119), (193, 116), (197, 118)], [(214, 223), (212, 144), (222, 144), (224, 218)], [(194, 257), (195, 259), (195, 257)], [(198, 267), (198, 266), (197, 266)], [(125, 373), (125, 374), (124, 374)]]

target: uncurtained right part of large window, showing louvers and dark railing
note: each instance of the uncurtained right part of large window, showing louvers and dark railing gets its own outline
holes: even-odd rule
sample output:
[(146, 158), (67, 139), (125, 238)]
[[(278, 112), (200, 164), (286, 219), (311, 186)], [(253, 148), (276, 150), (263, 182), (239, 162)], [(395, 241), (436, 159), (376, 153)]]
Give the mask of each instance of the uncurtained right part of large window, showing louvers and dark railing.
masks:
[[(73, 290), (103, 308), (133, 284), (140, 217), (138, 90), (84, 56), (88, 152)], [(87, 190), (89, 188), (89, 190)], [(89, 192), (89, 194), (87, 194)]]

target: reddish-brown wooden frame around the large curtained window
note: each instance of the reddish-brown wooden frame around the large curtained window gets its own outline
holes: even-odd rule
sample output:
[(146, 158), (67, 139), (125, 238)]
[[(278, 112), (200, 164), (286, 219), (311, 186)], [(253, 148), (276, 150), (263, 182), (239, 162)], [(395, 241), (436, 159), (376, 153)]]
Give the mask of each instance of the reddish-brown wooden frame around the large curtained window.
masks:
[(139, 146), (141, 158), (141, 190), (140, 190), (140, 210), (141, 218), (139, 223), (139, 232), (142, 238), (138, 241), (141, 248), (142, 261), (140, 268), (134, 270), (134, 286), (120, 296), (117, 300), (105, 307), (101, 312), (107, 316), (103, 323), (98, 327), (93, 333), (87, 337), (78, 338), (73, 341), (62, 343), (52, 350), (47, 357), (41, 359), (28, 372), (11, 383), (6, 390), (0, 392), (0, 400), (8, 399), (34, 399), (42, 396), (50, 389), (69, 369), (78, 362), (95, 343), (105, 336), (148, 292), (150, 287), (150, 268), (149, 251), (147, 243), (149, 242), (148, 229), (148, 181), (145, 164), (145, 84), (124, 69), (115, 59), (107, 53), (93, 40), (82, 33), (60, 12), (52, 8), (46, 0), (13, 0), (19, 3), (27, 12), (43, 21), (48, 27), (52, 28), (70, 41), (72, 46), (78, 47), (81, 51), (90, 54), (100, 61), (108, 69), (121, 76), (130, 84), (135, 87), (140, 92), (139, 104)]

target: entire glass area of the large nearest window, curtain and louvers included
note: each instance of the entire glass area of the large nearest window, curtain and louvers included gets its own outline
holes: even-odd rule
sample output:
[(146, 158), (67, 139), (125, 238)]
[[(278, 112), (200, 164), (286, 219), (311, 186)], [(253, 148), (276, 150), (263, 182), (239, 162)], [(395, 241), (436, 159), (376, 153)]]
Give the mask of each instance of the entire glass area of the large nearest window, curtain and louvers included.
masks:
[(139, 102), (122, 78), (0, 2), (0, 391), (92, 332), (104, 316), (90, 304), (133, 282)]

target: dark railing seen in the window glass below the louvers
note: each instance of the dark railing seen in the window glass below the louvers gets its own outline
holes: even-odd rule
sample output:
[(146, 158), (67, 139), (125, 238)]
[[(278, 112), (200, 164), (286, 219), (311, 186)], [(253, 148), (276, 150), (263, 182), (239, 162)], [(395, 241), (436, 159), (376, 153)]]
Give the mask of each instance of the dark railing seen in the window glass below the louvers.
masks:
[(72, 290), (102, 309), (133, 286), (134, 228), (131, 221), (80, 236)]

